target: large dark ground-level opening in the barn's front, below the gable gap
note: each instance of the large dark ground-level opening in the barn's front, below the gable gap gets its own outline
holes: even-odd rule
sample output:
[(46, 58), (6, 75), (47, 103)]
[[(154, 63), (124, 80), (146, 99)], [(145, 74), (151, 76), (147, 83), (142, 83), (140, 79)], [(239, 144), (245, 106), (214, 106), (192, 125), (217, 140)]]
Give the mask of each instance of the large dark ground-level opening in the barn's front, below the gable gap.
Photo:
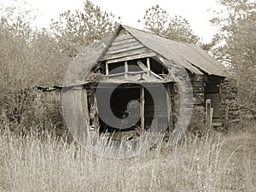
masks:
[[(103, 117), (104, 120), (99, 117), (100, 133), (113, 133), (113, 132), (128, 132), (128, 131), (138, 131), (142, 129), (147, 129), (148, 125), (151, 125), (151, 122), (154, 118), (154, 101), (152, 96), (149, 94), (148, 90), (143, 88), (143, 109), (142, 109), (142, 87), (140, 85), (130, 85), (123, 86), (120, 85), (113, 93), (108, 92), (107, 88), (102, 88), (102, 94), (111, 94), (110, 105), (113, 115), (120, 119), (119, 125), (113, 127), (109, 121), (108, 117)], [(100, 98), (97, 98), (99, 100)], [(101, 114), (102, 105), (101, 100), (97, 101), (98, 113)], [(143, 110), (143, 118), (142, 118)], [(131, 122), (127, 121), (128, 115), (131, 115), (131, 119), (137, 119), (134, 124), (131, 125)], [(143, 123), (142, 123), (143, 119)], [(132, 121), (133, 122), (133, 121)], [(131, 125), (128, 128), (126, 125)], [(143, 127), (142, 127), (143, 126)]]

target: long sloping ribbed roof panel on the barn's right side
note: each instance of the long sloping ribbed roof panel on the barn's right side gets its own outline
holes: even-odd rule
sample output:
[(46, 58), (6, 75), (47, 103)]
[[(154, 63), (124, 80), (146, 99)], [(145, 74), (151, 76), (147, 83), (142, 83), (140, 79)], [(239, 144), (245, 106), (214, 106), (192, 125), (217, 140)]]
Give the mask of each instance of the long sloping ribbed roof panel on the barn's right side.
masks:
[(144, 32), (130, 26), (119, 26), (130, 32), (148, 49), (154, 50), (157, 54), (164, 57), (171, 63), (176, 63), (188, 69), (191, 73), (217, 75), (229, 77), (230, 74), (226, 67), (215, 60), (211, 55), (194, 44), (187, 44), (173, 41), (170, 38), (160, 37), (150, 32)]

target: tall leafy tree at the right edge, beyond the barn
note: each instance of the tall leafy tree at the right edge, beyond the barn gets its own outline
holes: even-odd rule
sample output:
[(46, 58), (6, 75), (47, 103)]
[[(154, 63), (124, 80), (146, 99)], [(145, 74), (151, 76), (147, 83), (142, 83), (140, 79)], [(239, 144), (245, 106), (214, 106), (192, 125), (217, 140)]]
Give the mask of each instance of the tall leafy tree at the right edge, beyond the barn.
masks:
[[(256, 119), (256, 3), (250, 0), (218, 0), (224, 15), (212, 19), (219, 26), (223, 46), (214, 50), (219, 61), (228, 63), (236, 76), (242, 108)], [(218, 54), (217, 54), (218, 53)]]

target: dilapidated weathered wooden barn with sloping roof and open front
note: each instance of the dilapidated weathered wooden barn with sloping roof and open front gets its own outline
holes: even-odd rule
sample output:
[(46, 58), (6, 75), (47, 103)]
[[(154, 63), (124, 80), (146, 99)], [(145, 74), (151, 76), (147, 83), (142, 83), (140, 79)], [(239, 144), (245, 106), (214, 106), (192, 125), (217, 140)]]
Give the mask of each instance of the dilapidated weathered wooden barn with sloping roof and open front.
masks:
[[(230, 88), (228, 69), (194, 44), (173, 41), (129, 26), (119, 26), (101, 49), (94, 48), (94, 54), (90, 53), (90, 49), (79, 55), (78, 60), (83, 66), (84, 81), (55, 88), (68, 87), (65, 91), (83, 89), (84, 116), (90, 123), (91, 131), (117, 131), (98, 115), (98, 105), (101, 103), (96, 101), (96, 89), (108, 91), (109, 84), (120, 84), (113, 91), (110, 103), (117, 118), (125, 117), (129, 101), (139, 102), (139, 106), (133, 107), (140, 109), (140, 119), (128, 131), (147, 129), (148, 124), (152, 124), (153, 113), (158, 115), (158, 120), (154, 122), (156, 126), (166, 125), (168, 130), (172, 130), (175, 125), (174, 114), (179, 113), (181, 102), (178, 99), (177, 82), (173, 79), (175, 67), (183, 67), (189, 74), (193, 90), (191, 102), (194, 108), (206, 112), (204, 119), (207, 125), (226, 128), (229, 122), (236, 120), (237, 111), (232, 108), (236, 89)], [(179, 76), (178, 73), (176, 75)], [(105, 87), (104, 84), (97, 87), (102, 79)], [(163, 98), (159, 108), (162, 111), (155, 111), (152, 107), (152, 96), (140, 85), (142, 82), (152, 87), (155, 84), (165, 85), (166, 98)], [(166, 116), (167, 121), (163, 120)]]

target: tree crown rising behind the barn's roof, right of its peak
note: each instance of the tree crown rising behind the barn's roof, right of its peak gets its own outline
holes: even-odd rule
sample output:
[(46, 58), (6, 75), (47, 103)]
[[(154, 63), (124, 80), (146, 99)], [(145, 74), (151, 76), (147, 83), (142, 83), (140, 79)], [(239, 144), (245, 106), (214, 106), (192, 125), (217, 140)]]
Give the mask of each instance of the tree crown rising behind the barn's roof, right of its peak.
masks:
[(173, 40), (190, 44), (198, 44), (200, 40), (192, 31), (188, 20), (181, 16), (175, 16), (171, 20), (166, 10), (160, 8), (159, 5), (152, 6), (146, 10), (143, 23), (148, 32), (172, 38)]

